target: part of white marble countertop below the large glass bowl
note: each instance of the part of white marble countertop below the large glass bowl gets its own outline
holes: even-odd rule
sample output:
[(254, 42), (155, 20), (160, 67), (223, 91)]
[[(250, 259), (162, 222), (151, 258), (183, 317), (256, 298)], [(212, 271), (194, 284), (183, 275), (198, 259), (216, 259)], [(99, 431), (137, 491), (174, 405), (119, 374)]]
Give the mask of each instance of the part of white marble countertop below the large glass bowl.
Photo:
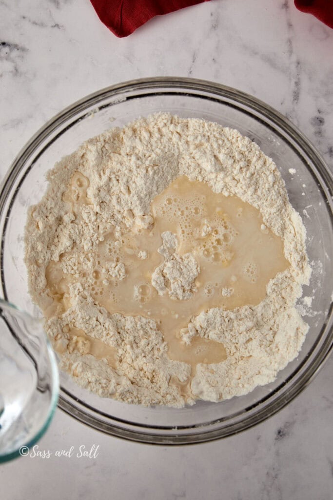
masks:
[[(129, 443), (56, 414), (39, 449), (99, 445), (95, 459), (22, 457), (0, 467), (3, 495), (42, 498), (228, 498), (331, 500), (332, 360), (312, 385), (265, 423), (221, 441), (189, 447)], [(24, 481), (13, 482), (23, 475)], [(1, 475), (2, 474), (2, 475)], [(28, 494), (27, 494), (28, 492)], [(39, 496), (38, 496), (39, 494)]]

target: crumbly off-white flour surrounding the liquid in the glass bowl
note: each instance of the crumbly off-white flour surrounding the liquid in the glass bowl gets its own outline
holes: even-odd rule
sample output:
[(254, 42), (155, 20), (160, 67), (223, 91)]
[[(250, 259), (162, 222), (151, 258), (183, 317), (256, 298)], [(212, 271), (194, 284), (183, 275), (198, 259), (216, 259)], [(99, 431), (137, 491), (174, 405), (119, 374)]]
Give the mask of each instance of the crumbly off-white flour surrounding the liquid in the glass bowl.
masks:
[[(182, 329), (186, 344), (203, 337), (222, 342), (227, 353), (222, 362), (196, 366), (191, 395), (186, 397), (174, 380), (186, 382), (191, 367), (169, 359), (157, 322), (140, 315), (110, 314), (88, 289), (94, 283), (93, 251), (105, 235), (112, 231), (120, 245), (124, 228), (149, 228), (151, 201), (180, 175), (258, 208), (262, 230), (270, 228), (281, 237), (290, 262), (269, 281), (258, 305), (214, 307), (193, 316)], [(308, 331), (295, 307), (302, 284), (310, 278), (305, 228), (289, 203), (275, 163), (249, 138), (216, 123), (155, 114), (87, 140), (59, 161), (47, 179), (47, 192), (29, 209), (25, 230), (29, 291), (61, 352), (60, 368), (78, 384), (121, 401), (181, 407), (196, 398), (219, 401), (246, 394), (273, 381), (297, 356)], [(211, 230), (204, 221), (203, 235)], [(177, 252), (173, 233), (164, 233), (160, 253), (164, 261), (154, 270), (152, 283), (158, 293), (182, 300), (186, 307), (186, 299), (196, 293), (200, 267), (191, 252)], [(145, 250), (138, 256), (149, 258)], [(74, 281), (80, 266), (87, 269), (82, 283), (59, 281), (63, 304), (52, 300), (47, 288), (50, 261), (54, 276), (59, 269)], [(126, 282), (122, 262), (113, 261), (102, 274), (105, 283), (108, 276)], [(232, 292), (225, 287), (221, 297)], [(91, 354), (93, 342), (108, 354)]]

